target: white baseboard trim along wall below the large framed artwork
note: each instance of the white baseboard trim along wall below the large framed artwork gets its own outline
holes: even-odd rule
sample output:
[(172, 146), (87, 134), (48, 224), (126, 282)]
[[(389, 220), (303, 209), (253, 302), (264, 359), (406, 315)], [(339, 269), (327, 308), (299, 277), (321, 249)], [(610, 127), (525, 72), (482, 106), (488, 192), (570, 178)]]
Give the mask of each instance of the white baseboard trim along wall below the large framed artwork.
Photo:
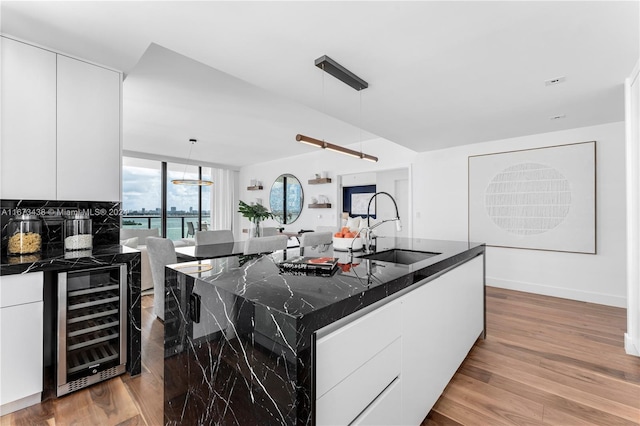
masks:
[(579, 300), (581, 302), (597, 303), (599, 305), (627, 307), (626, 296), (580, 291), (572, 288), (555, 287), (523, 281), (504, 280), (486, 277), (487, 286), (504, 288), (507, 290), (525, 291), (527, 293), (542, 294), (544, 296), (561, 297), (563, 299)]

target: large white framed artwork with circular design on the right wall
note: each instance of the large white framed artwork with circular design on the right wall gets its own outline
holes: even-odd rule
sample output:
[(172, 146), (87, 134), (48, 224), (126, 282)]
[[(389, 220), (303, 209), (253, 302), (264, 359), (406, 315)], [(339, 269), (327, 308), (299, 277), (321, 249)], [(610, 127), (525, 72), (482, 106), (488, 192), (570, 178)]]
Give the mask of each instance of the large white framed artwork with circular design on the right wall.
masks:
[(595, 142), (469, 157), (469, 240), (596, 252)]

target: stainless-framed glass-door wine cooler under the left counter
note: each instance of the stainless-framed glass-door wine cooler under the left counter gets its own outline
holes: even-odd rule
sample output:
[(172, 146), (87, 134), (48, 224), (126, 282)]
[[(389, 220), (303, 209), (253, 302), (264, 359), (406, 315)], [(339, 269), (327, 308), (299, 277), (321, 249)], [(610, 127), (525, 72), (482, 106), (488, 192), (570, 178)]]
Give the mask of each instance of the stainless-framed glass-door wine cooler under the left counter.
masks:
[(58, 274), (57, 395), (124, 373), (127, 266)]

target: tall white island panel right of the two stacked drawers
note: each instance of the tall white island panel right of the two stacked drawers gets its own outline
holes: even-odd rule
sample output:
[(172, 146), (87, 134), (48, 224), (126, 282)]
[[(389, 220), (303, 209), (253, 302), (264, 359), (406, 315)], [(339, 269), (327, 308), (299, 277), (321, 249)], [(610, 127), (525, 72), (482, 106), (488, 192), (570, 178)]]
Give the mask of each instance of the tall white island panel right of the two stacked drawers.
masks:
[(484, 327), (483, 256), (402, 302), (402, 424), (420, 424)]

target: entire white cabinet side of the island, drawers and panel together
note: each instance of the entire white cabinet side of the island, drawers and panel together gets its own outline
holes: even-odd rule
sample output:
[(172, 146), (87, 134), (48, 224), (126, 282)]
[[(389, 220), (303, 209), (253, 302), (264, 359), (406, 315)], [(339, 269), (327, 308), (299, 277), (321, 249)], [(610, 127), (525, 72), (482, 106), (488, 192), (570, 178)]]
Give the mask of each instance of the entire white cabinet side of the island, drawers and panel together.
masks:
[(316, 334), (316, 424), (419, 425), (484, 328), (484, 256)]

